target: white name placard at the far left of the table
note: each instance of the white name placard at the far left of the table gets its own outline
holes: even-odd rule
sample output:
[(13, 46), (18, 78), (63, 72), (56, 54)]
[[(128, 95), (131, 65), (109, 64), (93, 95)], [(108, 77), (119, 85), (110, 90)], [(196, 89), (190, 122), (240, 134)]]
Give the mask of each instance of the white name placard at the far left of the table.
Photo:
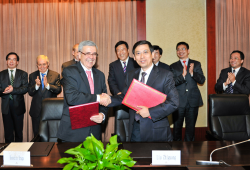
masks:
[(3, 165), (30, 166), (30, 152), (3, 151)]

